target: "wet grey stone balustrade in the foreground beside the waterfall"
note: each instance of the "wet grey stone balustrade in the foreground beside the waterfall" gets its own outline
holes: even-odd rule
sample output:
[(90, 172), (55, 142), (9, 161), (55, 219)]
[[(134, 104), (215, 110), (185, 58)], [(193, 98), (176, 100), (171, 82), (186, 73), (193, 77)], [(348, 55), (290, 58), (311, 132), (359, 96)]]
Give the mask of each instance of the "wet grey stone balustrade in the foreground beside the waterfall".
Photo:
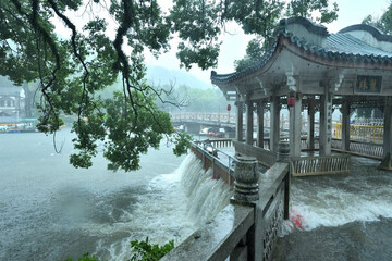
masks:
[[(194, 149), (200, 149), (199, 145), (196, 147)], [(207, 157), (211, 154), (208, 150), (204, 153)], [(237, 190), (238, 179), (231, 203), (161, 260), (215, 261), (229, 257), (231, 261), (272, 260), (278, 232), (283, 219), (289, 219), (290, 174), (289, 163), (283, 160), (289, 157), (281, 159), (266, 174), (256, 176), (259, 194), (254, 201), (240, 200), (238, 194), (244, 190)], [(250, 161), (236, 161), (235, 175), (253, 175), (254, 167), (246, 166), (254, 164)], [(248, 194), (245, 191), (244, 195)]]

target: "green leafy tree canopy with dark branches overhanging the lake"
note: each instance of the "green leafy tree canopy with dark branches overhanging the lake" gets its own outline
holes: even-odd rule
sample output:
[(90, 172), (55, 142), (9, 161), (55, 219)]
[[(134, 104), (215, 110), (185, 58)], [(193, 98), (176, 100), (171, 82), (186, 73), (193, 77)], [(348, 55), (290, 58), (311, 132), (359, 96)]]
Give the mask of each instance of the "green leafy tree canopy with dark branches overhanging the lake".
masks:
[[(299, 4), (301, 2), (301, 4)], [(139, 167), (139, 154), (157, 148), (162, 138), (174, 140), (175, 153), (186, 151), (189, 137), (175, 135), (163, 103), (166, 90), (144, 79), (145, 50), (158, 57), (177, 36), (181, 66), (203, 70), (217, 65), (220, 34), (230, 21), (246, 34), (268, 39), (282, 15), (282, 0), (2, 0), (0, 1), (0, 75), (16, 85), (39, 80), (40, 130), (62, 125), (60, 113), (77, 115), (71, 163), (88, 167), (103, 144), (109, 167)], [(320, 22), (335, 18), (327, 0), (292, 0), (289, 15), (321, 12)], [(83, 23), (81, 16), (83, 14)], [(60, 38), (54, 22), (70, 36)], [(113, 29), (114, 28), (114, 29)], [(111, 33), (115, 35), (111, 36)], [(268, 42), (265, 40), (264, 42)], [(248, 47), (259, 52), (257, 42)], [(260, 52), (262, 53), (262, 52)], [(123, 89), (112, 100), (99, 96), (120, 78)], [(174, 135), (174, 136), (173, 136)]]

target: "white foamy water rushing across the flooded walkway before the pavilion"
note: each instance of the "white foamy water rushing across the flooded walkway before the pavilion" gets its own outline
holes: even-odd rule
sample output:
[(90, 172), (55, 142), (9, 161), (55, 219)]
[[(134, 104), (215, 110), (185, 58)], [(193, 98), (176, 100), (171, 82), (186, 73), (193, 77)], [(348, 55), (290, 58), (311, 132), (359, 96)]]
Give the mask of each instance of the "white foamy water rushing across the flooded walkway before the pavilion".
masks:
[(309, 231), (355, 221), (373, 222), (380, 216), (392, 217), (392, 185), (378, 189), (366, 185), (358, 185), (357, 189), (332, 186), (333, 183), (327, 188), (301, 190), (293, 186), (291, 220), (299, 220), (302, 228)]

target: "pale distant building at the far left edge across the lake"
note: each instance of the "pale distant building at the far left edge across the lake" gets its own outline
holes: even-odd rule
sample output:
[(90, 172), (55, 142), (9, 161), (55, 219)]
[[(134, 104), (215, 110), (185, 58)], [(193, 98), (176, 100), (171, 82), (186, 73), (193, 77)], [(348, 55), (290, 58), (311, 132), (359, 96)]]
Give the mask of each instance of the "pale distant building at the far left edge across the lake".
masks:
[(25, 112), (25, 92), (10, 80), (0, 80), (0, 117), (20, 117)]

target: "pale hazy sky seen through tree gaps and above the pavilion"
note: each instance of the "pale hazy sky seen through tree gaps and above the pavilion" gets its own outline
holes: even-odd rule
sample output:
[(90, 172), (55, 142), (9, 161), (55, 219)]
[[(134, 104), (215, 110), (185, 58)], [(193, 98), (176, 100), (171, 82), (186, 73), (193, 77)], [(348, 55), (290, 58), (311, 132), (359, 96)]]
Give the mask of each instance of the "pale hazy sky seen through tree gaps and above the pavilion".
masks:
[[(171, 5), (171, 1), (169, 0), (158, 1), (163, 7), (163, 11), (167, 11)], [(338, 21), (326, 25), (330, 33), (336, 33), (346, 26), (359, 24), (368, 14), (371, 14), (373, 17), (379, 17), (382, 13), (384, 13), (390, 3), (390, 0), (329, 0), (330, 3), (335, 1), (339, 4), (339, 16)], [(107, 16), (102, 13), (99, 15)], [(86, 14), (71, 14), (71, 17), (73, 17), (72, 21), (77, 27), (81, 27), (81, 24), (85, 22), (85, 18), (87, 18), (85, 16)], [(109, 22), (109, 37), (113, 39), (118, 25), (111, 22), (109, 17), (107, 18), (107, 22)], [(56, 24), (58, 34), (64, 37), (70, 36), (70, 29), (64, 28), (59, 20), (53, 20), (53, 23)], [(223, 44), (221, 46), (221, 52), (218, 60), (218, 67), (213, 69), (220, 74), (234, 72), (234, 61), (244, 57), (246, 45), (249, 39), (252, 39), (252, 36), (245, 36), (242, 34), (242, 29), (240, 26), (235, 25), (235, 23), (228, 24), (226, 30), (230, 34), (225, 33), (221, 37)], [(147, 65), (158, 65), (169, 70), (180, 70), (180, 62), (175, 57), (176, 46), (177, 41), (175, 39), (172, 40), (171, 51), (161, 54), (158, 60), (146, 51), (145, 58)], [(210, 72), (211, 70), (201, 71), (196, 66), (189, 71), (189, 73), (206, 83), (210, 83)]]

